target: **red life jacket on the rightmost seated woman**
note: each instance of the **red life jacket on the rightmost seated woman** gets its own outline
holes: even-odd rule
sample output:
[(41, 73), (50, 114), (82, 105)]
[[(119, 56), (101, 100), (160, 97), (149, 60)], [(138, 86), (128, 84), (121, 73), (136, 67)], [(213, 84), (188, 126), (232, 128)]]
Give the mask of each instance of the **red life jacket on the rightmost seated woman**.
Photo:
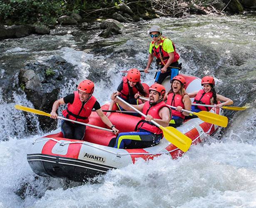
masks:
[[(213, 97), (213, 92), (204, 92), (203, 89), (200, 89), (199, 92), (196, 94), (196, 97), (194, 98), (193, 103), (199, 103), (204, 105), (211, 105), (211, 98)], [(210, 111), (211, 107), (205, 107), (205, 106), (196, 106), (202, 111)]]

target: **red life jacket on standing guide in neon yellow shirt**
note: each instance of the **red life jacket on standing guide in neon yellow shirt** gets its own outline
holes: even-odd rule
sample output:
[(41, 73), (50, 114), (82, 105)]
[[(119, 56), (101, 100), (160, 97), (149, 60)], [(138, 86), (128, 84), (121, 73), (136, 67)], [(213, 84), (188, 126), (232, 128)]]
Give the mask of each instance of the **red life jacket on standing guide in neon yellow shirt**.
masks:
[[(155, 57), (157, 57), (157, 63), (159, 63), (163, 66), (167, 63), (167, 60), (169, 59), (168, 53), (162, 49), (162, 45), (163, 45), (165, 39), (169, 39), (169, 38), (162, 37), (158, 48), (155, 47), (154, 41), (151, 42), (152, 43), (152, 54)], [(173, 59), (172, 63), (174, 63), (174, 62), (177, 62), (179, 60), (179, 54), (176, 52), (176, 48), (175, 48), (175, 45), (174, 45), (173, 42), (172, 42), (172, 46), (174, 48), (174, 59)], [(161, 60), (160, 55), (162, 56), (162, 60)]]

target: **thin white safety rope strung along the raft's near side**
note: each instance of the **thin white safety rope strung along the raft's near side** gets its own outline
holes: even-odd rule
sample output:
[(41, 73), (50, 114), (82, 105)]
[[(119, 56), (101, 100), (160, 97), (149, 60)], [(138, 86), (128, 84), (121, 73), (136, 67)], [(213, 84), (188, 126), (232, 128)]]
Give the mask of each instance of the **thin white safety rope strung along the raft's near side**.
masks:
[[(194, 139), (194, 141), (199, 139), (199, 137), (201, 135), (208, 134), (211, 131), (211, 128), (212, 128), (213, 125), (214, 124), (211, 124), (211, 127), (209, 128), (208, 131), (206, 131), (206, 132), (203, 131), (201, 134), (199, 134), (199, 136), (197, 136), (196, 139)], [(47, 137), (45, 137), (45, 138), (47, 138)], [(37, 141), (38, 139), (41, 139), (41, 140)], [(109, 150), (106, 150), (106, 149), (103, 149), (103, 148), (100, 148), (100, 147), (97, 147), (97, 146), (94, 146), (94, 145), (85, 144), (85, 141), (68, 141), (68, 142), (63, 142), (63, 141), (59, 141), (59, 140), (54, 139), (54, 138), (47, 138), (47, 139), (37, 138), (37, 139), (34, 140), (33, 144), (38, 143), (38, 142), (42, 142), (42, 141), (49, 141), (49, 140), (55, 141), (57, 143), (60, 143), (60, 146), (65, 146), (66, 144), (83, 144), (83, 145), (90, 146), (90, 147), (95, 148), (95, 149), (99, 149), (99, 150), (102, 150), (102, 151), (114, 154), (116, 156), (126, 156), (126, 155), (162, 155), (162, 154), (167, 154), (167, 153), (174, 152), (174, 151), (179, 149), (179, 148), (176, 148), (176, 149), (173, 149), (173, 150), (170, 150), (170, 151), (162, 151), (162, 152), (156, 152), (156, 153), (145, 153), (145, 152), (142, 152), (142, 153), (128, 153), (128, 152), (127, 153), (116, 153), (116, 152), (109, 151)], [(194, 143), (194, 141), (192, 143)]]

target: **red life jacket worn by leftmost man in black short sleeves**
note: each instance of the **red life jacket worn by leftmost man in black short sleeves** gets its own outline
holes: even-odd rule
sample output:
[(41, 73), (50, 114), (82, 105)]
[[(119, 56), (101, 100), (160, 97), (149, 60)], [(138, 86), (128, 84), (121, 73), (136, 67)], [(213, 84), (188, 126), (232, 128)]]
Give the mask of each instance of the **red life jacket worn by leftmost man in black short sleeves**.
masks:
[(88, 123), (89, 122), (88, 117), (92, 113), (92, 108), (95, 102), (97, 101), (97, 99), (94, 96), (90, 97), (90, 99), (82, 107), (82, 102), (79, 99), (78, 91), (75, 91), (74, 94), (75, 94), (74, 102), (72, 104), (68, 103), (67, 109), (62, 111), (62, 114), (67, 119)]

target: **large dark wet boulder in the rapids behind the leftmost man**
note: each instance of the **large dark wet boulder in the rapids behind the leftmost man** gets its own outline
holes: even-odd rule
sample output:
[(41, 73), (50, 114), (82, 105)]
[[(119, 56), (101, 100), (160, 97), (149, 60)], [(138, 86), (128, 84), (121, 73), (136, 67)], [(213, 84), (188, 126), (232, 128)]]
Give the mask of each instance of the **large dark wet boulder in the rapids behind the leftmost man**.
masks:
[[(65, 79), (77, 78), (77, 74), (72, 64), (60, 56), (53, 56), (42, 62), (26, 64), (20, 70), (19, 84), (35, 109), (50, 112)], [(39, 122), (42, 129), (55, 128), (52, 120), (45, 116), (39, 116)]]

